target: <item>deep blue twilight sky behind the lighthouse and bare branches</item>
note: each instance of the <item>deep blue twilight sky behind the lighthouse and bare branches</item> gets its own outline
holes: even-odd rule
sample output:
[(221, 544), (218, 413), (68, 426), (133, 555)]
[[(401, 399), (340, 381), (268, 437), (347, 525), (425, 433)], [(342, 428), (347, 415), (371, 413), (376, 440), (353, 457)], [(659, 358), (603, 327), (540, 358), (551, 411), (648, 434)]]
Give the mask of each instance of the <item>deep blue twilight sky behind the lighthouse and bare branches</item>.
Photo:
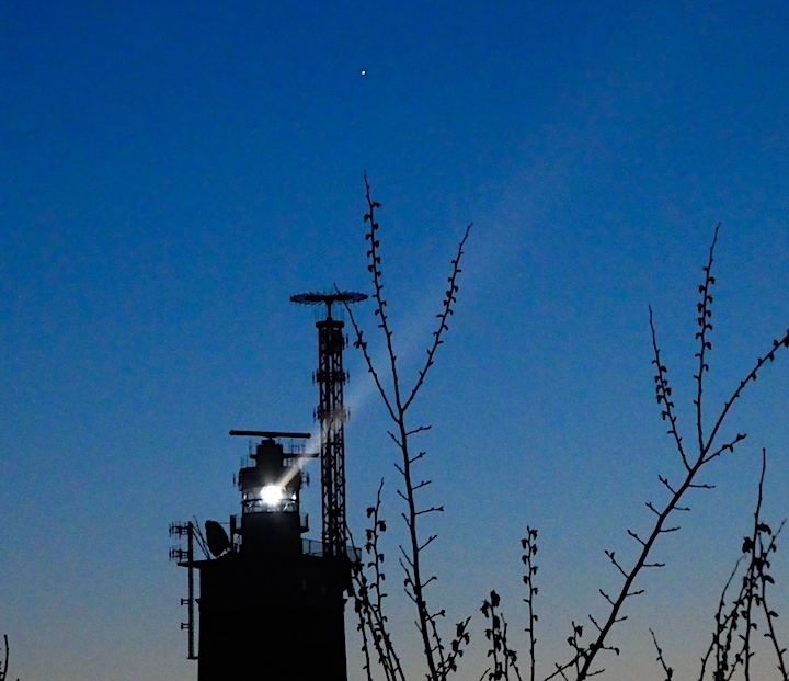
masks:
[[(679, 472), (648, 305), (686, 438), (716, 223), (710, 412), (789, 326), (787, 35), (779, 0), (4, 2), (0, 633), (14, 678), (196, 678), (168, 524), (239, 511), (247, 444), (229, 429), (311, 428), (313, 317), (288, 298), (370, 293), (365, 169), (412, 371), (474, 224), (415, 407), (433, 424), (427, 501), (446, 507), (427, 558), (436, 604), (451, 623), (474, 614), (461, 678), (484, 668), (491, 588), (525, 623), (527, 523), (540, 667), (562, 660), (570, 621), (603, 613), (598, 589), (618, 583), (603, 551), (630, 555), (658, 474)], [(371, 310), (358, 306), (369, 333)], [(748, 439), (661, 545), (667, 566), (615, 632), (608, 679), (659, 677), (649, 626), (693, 674), (762, 446), (766, 517), (789, 513), (788, 355), (733, 410), (725, 433)], [(387, 423), (353, 350), (346, 366), (350, 517), (361, 532), (386, 476), (397, 527)], [(780, 551), (775, 576), (789, 615)]]

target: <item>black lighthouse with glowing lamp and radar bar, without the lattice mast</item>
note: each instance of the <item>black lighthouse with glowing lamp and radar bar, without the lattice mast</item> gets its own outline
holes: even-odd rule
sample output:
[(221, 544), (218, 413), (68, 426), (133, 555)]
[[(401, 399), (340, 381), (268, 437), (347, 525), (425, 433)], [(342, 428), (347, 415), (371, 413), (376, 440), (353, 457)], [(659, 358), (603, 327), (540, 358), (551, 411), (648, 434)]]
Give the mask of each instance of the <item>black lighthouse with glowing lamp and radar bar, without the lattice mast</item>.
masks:
[(253, 465), (239, 472), (241, 518), (230, 523), (236, 536), (207, 523), (208, 549), (218, 556), (194, 564), (201, 584), (197, 679), (345, 681), (351, 560), (301, 540), (302, 458), (278, 441), (306, 435), (230, 434), (261, 440)]

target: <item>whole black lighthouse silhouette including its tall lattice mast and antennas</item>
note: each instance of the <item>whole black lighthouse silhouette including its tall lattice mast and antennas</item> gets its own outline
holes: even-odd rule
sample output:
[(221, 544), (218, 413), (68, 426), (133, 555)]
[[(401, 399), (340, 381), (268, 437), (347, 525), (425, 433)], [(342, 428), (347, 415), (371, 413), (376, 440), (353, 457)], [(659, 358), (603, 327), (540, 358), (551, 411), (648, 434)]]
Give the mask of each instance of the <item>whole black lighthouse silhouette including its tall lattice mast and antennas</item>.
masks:
[[(241, 514), (228, 531), (207, 521), (205, 535), (193, 524), (170, 527), (185, 537), (187, 549), (171, 557), (188, 568), (190, 659), (197, 659), (198, 681), (346, 681), (345, 592), (352, 561), (346, 546), (343, 385), (343, 322), (332, 318), (333, 303), (357, 302), (362, 294), (310, 296), (302, 303), (324, 303), (327, 318), (317, 322), (320, 386), (320, 453), (305, 454), (301, 444), (286, 451), (282, 439), (307, 433), (230, 431), (256, 439), (249, 465), (238, 475)], [(300, 493), (306, 459), (321, 458), (322, 542), (302, 540), (308, 530)], [(205, 559), (196, 560), (194, 544)], [(199, 572), (199, 598), (194, 572)], [(197, 609), (195, 609), (197, 604)], [(195, 622), (199, 613), (199, 626)], [(195, 655), (195, 629), (198, 628)]]

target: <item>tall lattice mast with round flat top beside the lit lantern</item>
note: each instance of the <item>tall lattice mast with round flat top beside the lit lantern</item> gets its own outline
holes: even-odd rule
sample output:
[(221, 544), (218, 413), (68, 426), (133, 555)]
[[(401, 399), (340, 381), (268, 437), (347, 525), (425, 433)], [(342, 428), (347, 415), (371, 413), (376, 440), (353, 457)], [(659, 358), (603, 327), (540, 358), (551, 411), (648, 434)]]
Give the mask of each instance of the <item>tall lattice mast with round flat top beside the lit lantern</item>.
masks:
[(316, 322), (318, 329), (318, 371), (313, 379), (318, 384), (320, 401), (316, 418), (320, 423), (321, 449), (321, 517), (324, 556), (345, 554), (345, 420), (347, 411), (343, 404), (343, 386), (347, 374), (343, 370), (342, 355), (345, 348), (344, 322), (332, 317), (334, 303), (359, 303), (363, 293), (302, 293), (290, 297), (294, 303), (325, 305), (325, 318)]

